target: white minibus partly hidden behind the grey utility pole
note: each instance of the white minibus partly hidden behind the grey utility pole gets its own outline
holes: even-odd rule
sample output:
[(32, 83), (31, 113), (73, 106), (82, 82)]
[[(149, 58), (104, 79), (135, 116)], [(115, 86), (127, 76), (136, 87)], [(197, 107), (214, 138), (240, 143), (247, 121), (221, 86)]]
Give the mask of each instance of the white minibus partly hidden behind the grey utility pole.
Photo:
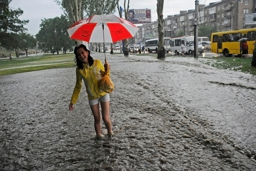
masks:
[[(186, 47), (186, 52), (188, 54), (194, 53), (194, 36), (182, 36), (170, 39), (171, 51), (178, 54), (181, 52), (181, 44), (184, 44)], [(198, 52), (201, 54), (204, 52), (204, 47), (202, 44), (198, 43)]]

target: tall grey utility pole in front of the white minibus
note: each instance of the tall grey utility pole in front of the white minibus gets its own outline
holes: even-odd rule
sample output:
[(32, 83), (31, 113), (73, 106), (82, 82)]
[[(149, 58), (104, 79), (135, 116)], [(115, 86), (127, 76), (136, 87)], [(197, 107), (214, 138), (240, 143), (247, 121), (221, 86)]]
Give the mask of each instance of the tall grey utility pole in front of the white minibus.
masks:
[(194, 58), (198, 57), (198, 13), (199, 1), (195, 1), (195, 19), (194, 19)]

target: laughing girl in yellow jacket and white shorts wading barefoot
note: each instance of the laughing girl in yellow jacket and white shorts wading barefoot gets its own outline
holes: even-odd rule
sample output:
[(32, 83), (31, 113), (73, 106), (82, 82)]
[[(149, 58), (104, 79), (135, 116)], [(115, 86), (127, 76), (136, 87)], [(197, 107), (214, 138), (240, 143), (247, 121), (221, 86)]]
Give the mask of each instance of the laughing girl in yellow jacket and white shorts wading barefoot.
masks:
[[(86, 92), (89, 99), (89, 105), (94, 116), (94, 128), (96, 136), (101, 137), (101, 124), (100, 124), (100, 110), (99, 103), (102, 111), (102, 120), (107, 128), (108, 135), (113, 135), (112, 123), (109, 118), (109, 93), (106, 93), (99, 89), (99, 80), (104, 76), (105, 70), (109, 68), (109, 63), (105, 63), (104, 66), (100, 60), (94, 60), (91, 57), (91, 52), (86, 48), (85, 45), (80, 44), (74, 49), (76, 55), (76, 85), (71, 97), (69, 110), (74, 109), (74, 105), (78, 100), (81, 87), (82, 79), (84, 81)], [(109, 75), (109, 72), (107, 73)]]

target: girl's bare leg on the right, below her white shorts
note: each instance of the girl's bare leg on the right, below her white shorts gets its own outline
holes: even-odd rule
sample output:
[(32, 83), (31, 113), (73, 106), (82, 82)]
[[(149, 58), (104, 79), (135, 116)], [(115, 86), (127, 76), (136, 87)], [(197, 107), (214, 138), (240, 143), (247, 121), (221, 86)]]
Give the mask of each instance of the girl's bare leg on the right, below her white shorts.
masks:
[(109, 118), (109, 101), (101, 101), (101, 112), (102, 112), (102, 120), (105, 123), (105, 127), (107, 128), (108, 135), (112, 135), (112, 123)]

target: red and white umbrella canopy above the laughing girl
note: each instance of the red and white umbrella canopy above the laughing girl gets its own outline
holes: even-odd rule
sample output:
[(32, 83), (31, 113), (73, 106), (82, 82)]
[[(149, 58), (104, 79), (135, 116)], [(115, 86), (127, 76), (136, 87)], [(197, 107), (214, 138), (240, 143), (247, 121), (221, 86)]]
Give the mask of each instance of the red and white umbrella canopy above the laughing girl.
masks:
[(115, 15), (94, 15), (71, 25), (68, 35), (86, 42), (113, 43), (134, 37), (138, 30), (136, 25)]

